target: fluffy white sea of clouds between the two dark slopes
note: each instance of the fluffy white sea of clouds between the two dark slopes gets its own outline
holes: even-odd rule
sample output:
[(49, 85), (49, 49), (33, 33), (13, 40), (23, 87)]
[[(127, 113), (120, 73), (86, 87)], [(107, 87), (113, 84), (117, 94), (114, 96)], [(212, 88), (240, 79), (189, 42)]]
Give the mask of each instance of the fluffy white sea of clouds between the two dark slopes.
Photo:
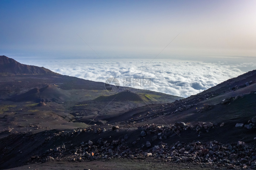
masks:
[[(120, 86), (129, 85), (181, 97), (197, 94), (245, 73), (241, 68), (256, 66), (252, 62), (230, 65), (225, 62), (168, 59), (65, 59), (48, 60), (37, 65), (63, 75), (92, 81), (106, 82), (108, 78), (114, 77), (118, 79)], [(143, 83), (143, 78), (147, 82)], [(135, 84), (134, 81), (139, 79), (141, 83)]]

